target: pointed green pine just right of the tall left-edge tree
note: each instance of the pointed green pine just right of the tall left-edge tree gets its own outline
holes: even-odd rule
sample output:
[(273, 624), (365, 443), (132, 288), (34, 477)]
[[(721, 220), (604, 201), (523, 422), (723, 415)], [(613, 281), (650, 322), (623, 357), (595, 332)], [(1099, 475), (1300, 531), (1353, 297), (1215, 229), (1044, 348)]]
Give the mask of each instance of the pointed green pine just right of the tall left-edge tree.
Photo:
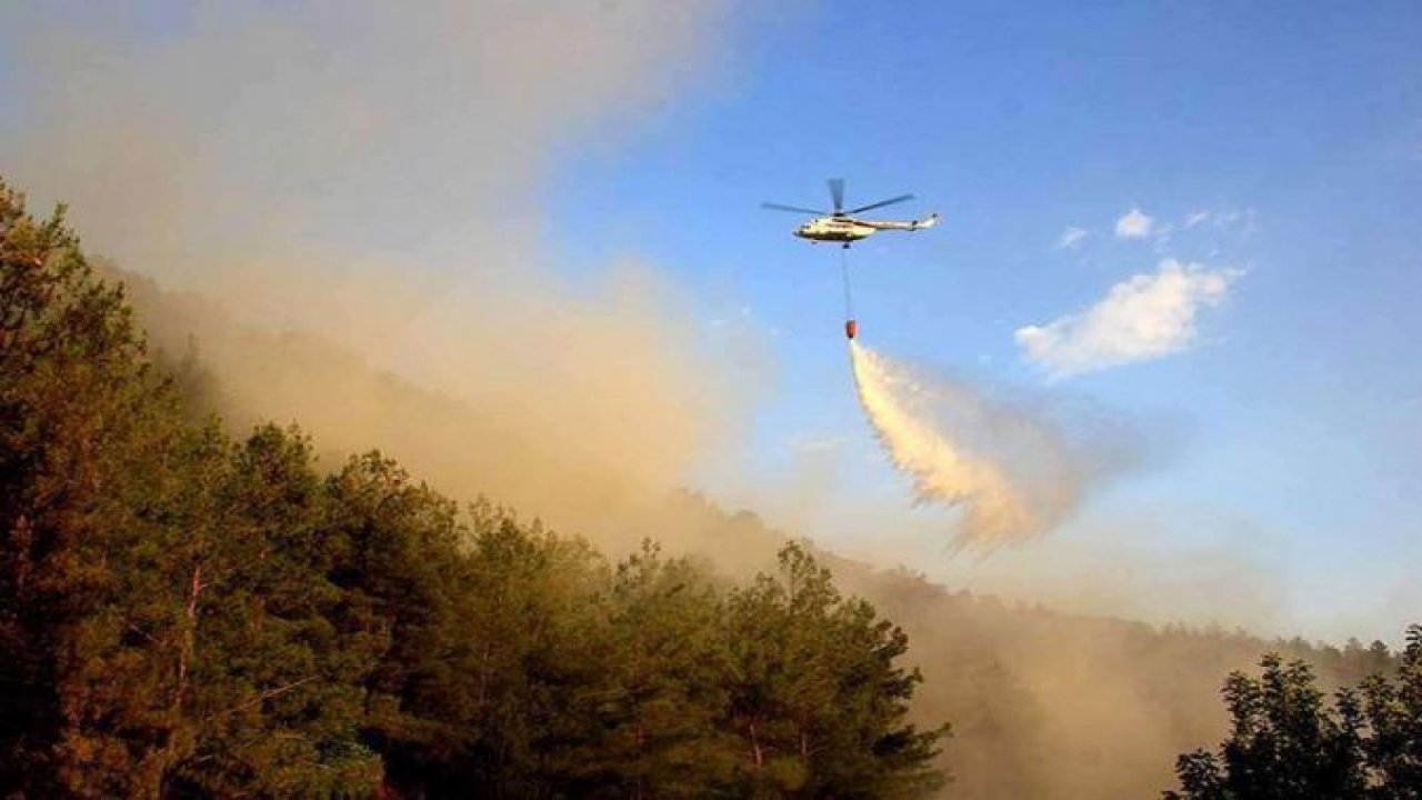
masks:
[(259, 428), (229, 450), (212, 537), (183, 572), (195, 618), (176, 794), (367, 793), (380, 760), (358, 739), (380, 639), (336, 625), (334, 541), (310, 446)]

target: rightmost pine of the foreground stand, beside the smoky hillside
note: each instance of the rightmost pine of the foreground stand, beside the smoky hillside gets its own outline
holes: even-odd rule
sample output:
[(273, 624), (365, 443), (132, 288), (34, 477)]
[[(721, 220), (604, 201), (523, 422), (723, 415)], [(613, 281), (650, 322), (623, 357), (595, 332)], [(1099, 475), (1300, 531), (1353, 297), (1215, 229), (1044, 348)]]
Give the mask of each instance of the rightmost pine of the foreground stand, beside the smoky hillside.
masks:
[(907, 636), (842, 598), (802, 545), (781, 549), (776, 575), (731, 594), (727, 625), (742, 791), (884, 797), (941, 781), (926, 764), (946, 727), (903, 723), (921, 680), (896, 665)]

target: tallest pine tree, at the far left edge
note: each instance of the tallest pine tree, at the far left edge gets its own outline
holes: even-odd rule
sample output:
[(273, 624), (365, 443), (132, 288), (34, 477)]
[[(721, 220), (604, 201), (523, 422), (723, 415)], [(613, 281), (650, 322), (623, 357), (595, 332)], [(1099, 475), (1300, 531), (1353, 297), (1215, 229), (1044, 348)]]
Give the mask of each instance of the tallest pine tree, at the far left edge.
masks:
[(128, 628), (122, 565), (178, 421), (63, 208), (36, 222), (0, 182), (0, 789), (154, 790), (132, 753), (173, 720), (145, 699), (151, 642)]

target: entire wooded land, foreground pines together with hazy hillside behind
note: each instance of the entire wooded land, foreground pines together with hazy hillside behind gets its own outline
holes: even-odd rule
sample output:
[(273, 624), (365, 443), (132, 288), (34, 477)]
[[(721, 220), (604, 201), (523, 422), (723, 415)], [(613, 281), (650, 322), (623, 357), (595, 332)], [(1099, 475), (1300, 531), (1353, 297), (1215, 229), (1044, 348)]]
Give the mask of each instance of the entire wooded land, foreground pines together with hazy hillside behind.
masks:
[[(3, 184), (0, 269), (6, 796), (1422, 791), (1416, 629), (1394, 653), (1062, 615), (693, 493), (555, 531), (451, 500), (448, 461), (407, 471), (394, 421), (364, 450), (273, 424), (260, 386), (358, 360), (243, 332), (264, 369), (232, 380), (218, 315)], [(462, 413), (353, 380), (377, 416)]]

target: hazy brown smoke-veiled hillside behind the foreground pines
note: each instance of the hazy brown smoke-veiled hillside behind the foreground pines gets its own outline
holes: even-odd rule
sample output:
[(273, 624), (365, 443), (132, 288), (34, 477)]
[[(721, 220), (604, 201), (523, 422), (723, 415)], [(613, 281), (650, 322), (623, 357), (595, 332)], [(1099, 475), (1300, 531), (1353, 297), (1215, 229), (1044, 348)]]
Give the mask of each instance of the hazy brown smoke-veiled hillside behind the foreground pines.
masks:
[[(448, 494), (509, 504), (587, 535), (609, 554), (653, 538), (668, 552), (744, 577), (771, 565), (792, 538), (694, 493), (643, 491), (606, 464), (530, 451), (518, 431), (489, 424), (478, 407), (375, 370), (319, 336), (245, 327), (209, 300), (117, 275), (193, 401), (236, 431), (262, 419), (299, 420), (336, 464), (344, 453), (380, 446)], [(600, 491), (557, 491), (589, 481)], [(1227, 672), (1283, 651), (1318, 665), (1335, 686), (1391, 663), (1385, 651), (1357, 642), (1338, 649), (1064, 615), (954, 592), (912, 569), (820, 558), (845, 591), (910, 635), (909, 659), (926, 678), (914, 713), (954, 726), (940, 763), (954, 776), (956, 797), (1152, 796), (1172, 783), (1177, 753), (1223, 736), (1217, 698)]]

